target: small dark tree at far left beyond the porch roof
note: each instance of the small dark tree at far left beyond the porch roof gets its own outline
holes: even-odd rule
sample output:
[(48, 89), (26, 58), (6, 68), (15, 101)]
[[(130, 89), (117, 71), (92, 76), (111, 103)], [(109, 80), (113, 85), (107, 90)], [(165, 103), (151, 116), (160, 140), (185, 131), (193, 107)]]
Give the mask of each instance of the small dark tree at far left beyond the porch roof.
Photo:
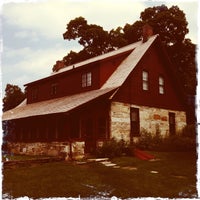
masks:
[(19, 105), (25, 99), (25, 94), (17, 85), (7, 84), (5, 97), (3, 98), (3, 111), (10, 110)]

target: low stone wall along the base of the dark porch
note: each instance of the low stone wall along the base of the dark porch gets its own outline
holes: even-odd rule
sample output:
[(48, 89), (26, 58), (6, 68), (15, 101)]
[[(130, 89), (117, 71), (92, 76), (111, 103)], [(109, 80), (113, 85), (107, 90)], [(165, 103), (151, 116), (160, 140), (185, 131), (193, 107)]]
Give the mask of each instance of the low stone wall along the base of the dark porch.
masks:
[(68, 158), (70, 149), (74, 159), (84, 156), (85, 142), (36, 142), (36, 143), (8, 143), (8, 151), (22, 155), (62, 156)]

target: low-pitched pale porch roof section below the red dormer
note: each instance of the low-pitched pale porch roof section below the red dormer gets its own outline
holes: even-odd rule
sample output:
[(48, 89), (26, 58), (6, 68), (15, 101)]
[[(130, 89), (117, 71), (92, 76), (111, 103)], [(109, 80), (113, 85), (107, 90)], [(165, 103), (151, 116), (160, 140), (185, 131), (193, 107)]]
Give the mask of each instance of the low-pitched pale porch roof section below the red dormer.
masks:
[(4, 112), (2, 120), (7, 121), (41, 115), (67, 113), (106, 94), (110, 94), (110, 96), (112, 96), (116, 89), (117, 88), (115, 87), (92, 90), (32, 104), (26, 104), (25, 100), (16, 108)]

